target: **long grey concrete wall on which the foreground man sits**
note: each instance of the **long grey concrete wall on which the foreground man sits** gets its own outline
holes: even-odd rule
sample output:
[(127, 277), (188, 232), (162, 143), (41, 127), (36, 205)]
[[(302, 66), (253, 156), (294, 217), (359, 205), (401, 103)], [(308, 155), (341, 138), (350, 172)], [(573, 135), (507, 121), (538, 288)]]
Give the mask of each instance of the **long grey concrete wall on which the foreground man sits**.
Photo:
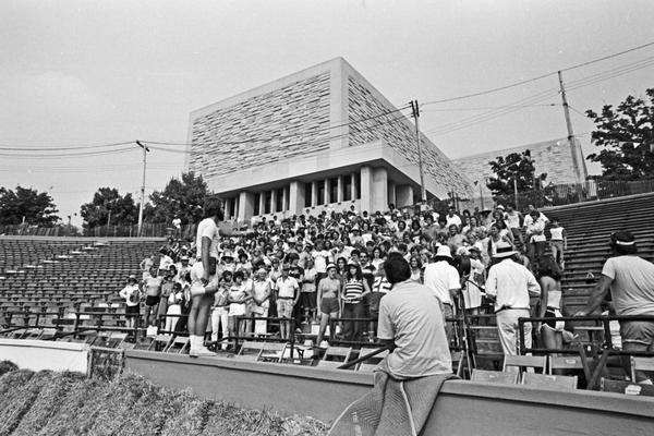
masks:
[[(373, 386), (354, 371), (126, 351), (125, 367), (164, 386), (284, 415), (332, 422)], [(424, 435), (650, 436), (654, 399), (586, 390), (545, 390), (446, 382)]]

